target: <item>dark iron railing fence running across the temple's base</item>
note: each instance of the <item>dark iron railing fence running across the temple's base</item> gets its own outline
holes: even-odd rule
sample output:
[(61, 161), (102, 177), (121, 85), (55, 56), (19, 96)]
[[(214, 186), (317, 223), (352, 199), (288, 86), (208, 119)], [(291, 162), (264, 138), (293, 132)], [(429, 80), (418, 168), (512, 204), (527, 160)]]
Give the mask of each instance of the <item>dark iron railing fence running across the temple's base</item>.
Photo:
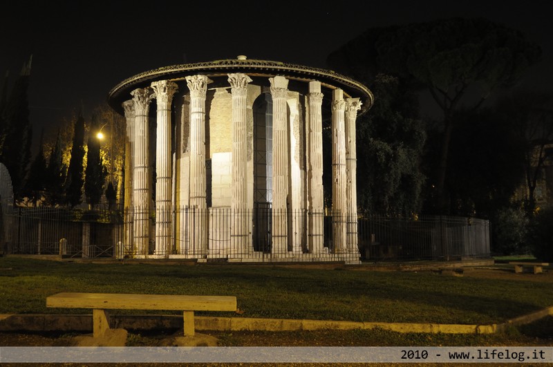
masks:
[[(8, 254), (207, 261), (443, 260), (490, 255), (489, 222), (422, 216), (180, 207), (156, 211), (17, 208)], [(357, 220), (356, 220), (357, 219)]]

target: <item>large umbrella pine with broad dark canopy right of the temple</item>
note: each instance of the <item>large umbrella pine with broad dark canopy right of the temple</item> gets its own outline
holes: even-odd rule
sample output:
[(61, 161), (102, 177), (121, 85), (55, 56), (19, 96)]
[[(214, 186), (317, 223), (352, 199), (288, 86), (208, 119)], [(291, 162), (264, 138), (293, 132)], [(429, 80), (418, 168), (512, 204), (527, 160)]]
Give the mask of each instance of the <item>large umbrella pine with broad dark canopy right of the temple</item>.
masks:
[(395, 75), (428, 91), (442, 117), (440, 159), (431, 184), (435, 210), (447, 211), (449, 143), (460, 109), (478, 109), (498, 89), (512, 86), (541, 57), (518, 30), (485, 19), (444, 19), (371, 28), (328, 57), (346, 75), (370, 85), (377, 73)]

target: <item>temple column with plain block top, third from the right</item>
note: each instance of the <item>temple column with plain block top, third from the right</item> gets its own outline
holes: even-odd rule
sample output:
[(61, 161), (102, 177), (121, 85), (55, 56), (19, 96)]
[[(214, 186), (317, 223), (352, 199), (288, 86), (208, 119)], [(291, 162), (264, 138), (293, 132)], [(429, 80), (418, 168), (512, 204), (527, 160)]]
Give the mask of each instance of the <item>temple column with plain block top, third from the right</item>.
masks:
[(321, 82), (310, 82), (308, 94), (308, 246), (310, 254), (320, 254), (324, 245), (322, 104)]

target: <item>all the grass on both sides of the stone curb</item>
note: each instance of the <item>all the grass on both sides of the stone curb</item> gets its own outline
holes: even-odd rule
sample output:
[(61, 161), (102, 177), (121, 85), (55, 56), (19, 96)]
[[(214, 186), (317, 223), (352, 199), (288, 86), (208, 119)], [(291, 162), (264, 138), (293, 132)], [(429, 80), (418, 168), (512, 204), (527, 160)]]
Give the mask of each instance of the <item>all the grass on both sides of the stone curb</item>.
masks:
[[(46, 308), (46, 297), (57, 292), (219, 294), (236, 296), (238, 308), (245, 311), (221, 312), (225, 317), (489, 324), (552, 306), (552, 284), (551, 267), (544, 274), (514, 274), (507, 264), (447, 276), (367, 267), (100, 264), (4, 256), (0, 313), (91, 313)], [(157, 346), (176, 331), (182, 332), (131, 332), (127, 346)], [(553, 316), (485, 335), (379, 329), (209, 334), (221, 346), (553, 346)], [(64, 346), (71, 336), (0, 332), (0, 346)]]

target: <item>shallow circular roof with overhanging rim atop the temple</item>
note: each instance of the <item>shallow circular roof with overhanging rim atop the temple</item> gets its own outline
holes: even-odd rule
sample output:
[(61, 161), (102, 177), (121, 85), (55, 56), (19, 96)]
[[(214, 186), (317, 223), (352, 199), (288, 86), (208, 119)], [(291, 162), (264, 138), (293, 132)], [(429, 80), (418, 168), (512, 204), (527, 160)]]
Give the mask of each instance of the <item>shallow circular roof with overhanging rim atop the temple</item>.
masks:
[(227, 77), (228, 73), (245, 73), (250, 76), (273, 77), (282, 75), (291, 80), (310, 82), (317, 80), (324, 88), (341, 88), (346, 97), (359, 97), (362, 101), (359, 115), (362, 115), (373, 105), (373, 93), (364, 84), (350, 77), (340, 75), (332, 70), (310, 68), (308, 66), (285, 64), (266, 60), (247, 59), (240, 55), (236, 59), (216, 60), (212, 62), (200, 62), (197, 64), (181, 64), (165, 66), (154, 70), (145, 71), (124, 79), (111, 89), (108, 95), (109, 105), (122, 113), (122, 102), (130, 99), (130, 93), (135, 88), (145, 88), (151, 82), (162, 79), (178, 81), (188, 75), (202, 74), (210, 79)]

